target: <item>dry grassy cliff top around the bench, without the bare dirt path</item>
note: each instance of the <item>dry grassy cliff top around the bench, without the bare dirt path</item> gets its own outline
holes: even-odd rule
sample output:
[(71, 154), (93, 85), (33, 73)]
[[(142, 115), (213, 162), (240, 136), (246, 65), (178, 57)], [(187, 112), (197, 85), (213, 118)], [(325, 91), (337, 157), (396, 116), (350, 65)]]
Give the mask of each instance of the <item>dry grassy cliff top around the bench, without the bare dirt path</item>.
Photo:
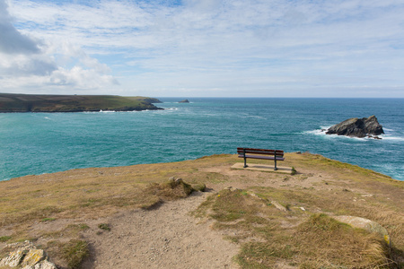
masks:
[[(114, 216), (119, 222), (117, 213), (136, 208), (153, 208), (157, 218), (155, 204), (183, 197), (167, 188), (174, 177), (191, 186), (206, 185), (211, 195), (193, 215), (213, 221), (214, 230), (240, 247), (233, 260), (242, 268), (404, 265), (404, 182), (310, 153), (285, 154), (281, 165), (294, 167), (294, 175), (231, 169), (236, 162), (242, 159), (214, 155), (0, 182), (0, 249), (31, 239), (56, 260), (61, 256), (58, 265), (64, 265), (55, 246), (63, 249), (64, 242), (83, 239), (83, 233), (97, 237), (93, 220)], [(277, 208), (279, 204), (285, 211)], [(378, 234), (332, 218), (340, 215), (378, 222), (389, 233), (391, 246)], [(55, 225), (44, 224), (48, 222)]]

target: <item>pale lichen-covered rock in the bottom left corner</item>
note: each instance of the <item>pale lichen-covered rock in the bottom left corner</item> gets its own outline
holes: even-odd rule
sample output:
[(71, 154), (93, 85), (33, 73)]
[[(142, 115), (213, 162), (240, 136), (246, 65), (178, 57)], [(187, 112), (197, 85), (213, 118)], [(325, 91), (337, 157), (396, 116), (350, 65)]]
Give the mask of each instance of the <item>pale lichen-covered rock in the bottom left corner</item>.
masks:
[(37, 249), (30, 241), (13, 243), (6, 246), (11, 251), (8, 256), (0, 259), (0, 267), (20, 266), (22, 269), (57, 269), (48, 261), (48, 256), (42, 249)]

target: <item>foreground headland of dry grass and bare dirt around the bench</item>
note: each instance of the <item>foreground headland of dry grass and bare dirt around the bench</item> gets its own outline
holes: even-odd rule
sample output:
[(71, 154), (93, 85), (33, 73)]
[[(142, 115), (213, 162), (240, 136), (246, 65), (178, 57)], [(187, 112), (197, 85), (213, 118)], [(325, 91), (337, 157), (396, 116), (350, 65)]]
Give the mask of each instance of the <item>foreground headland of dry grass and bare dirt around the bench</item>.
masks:
[[(213, 155), (0, 182), (0, 258), (29, 239), (58, 268), (404, 265), (403, 181), (311, 153), (285, 154), (294, 175), (231, 169), (241, 161)], [(344, 222), (353, 218), (382, 228)]]

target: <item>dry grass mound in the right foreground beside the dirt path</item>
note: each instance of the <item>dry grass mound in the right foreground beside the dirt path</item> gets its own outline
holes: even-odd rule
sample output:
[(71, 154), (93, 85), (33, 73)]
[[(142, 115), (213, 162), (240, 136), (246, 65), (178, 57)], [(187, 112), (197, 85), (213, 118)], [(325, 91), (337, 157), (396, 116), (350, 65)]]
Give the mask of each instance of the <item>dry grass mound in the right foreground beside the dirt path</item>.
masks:
[[(287, 193), (277, 195), (282, 196), (289, 197), (290, 203), (297, 202)], [(227, 239), (241, 244), (236, 260), (243, 268), (272, 268), (280, 260), (301, 268), (400, 266), (381, 236), (354, 229), (322, 213), (281, 212), (269, 200), (243, 190), (224, 190), (201, 204), (197, 213), (200, 217), (209, 212), (216, 221), (214, 228), (227, 231)]]

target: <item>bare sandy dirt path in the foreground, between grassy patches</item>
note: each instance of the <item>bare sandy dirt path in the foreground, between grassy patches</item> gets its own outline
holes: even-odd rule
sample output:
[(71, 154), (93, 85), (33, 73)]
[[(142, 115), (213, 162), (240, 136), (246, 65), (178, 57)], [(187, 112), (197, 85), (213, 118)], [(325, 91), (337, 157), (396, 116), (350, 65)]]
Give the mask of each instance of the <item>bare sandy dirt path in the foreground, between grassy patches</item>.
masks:
[(92, 261), (84, 268), (239, 268), (238, 247), (189, 215), (208, 194), (166, 202), (151, 211), (120, 213), (110, 231), (88, 234)]

